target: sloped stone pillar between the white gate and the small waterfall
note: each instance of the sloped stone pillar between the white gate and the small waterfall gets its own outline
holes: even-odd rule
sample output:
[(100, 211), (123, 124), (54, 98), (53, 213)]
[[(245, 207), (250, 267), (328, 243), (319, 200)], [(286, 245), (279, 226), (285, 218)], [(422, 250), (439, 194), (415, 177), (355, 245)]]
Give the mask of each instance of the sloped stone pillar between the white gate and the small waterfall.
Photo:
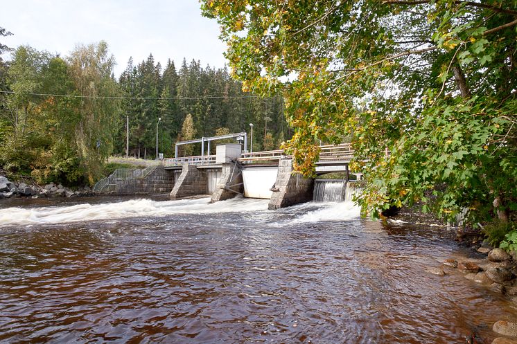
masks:
[(276, 210), (313, 200), (314, 179), (292, 173), (292, 160), (281, 159), (268, 208)]

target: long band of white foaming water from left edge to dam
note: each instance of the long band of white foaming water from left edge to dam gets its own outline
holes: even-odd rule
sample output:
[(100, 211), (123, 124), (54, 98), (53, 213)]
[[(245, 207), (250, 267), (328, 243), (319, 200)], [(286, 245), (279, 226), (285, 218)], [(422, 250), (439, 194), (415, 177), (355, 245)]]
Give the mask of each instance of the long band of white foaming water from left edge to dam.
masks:
[(242, 197), (210, 203), (209, 198), (177, 201), (130, 201), (103, 204), (78, 204), (45, 208), (6, 208), (0, 210), (0, 226), (63, 224), (75, 221), (113, 220), (126, 217), (163, 217), (174, 214), (211, 214), (249, 212), (268, 209), (268, 199)]

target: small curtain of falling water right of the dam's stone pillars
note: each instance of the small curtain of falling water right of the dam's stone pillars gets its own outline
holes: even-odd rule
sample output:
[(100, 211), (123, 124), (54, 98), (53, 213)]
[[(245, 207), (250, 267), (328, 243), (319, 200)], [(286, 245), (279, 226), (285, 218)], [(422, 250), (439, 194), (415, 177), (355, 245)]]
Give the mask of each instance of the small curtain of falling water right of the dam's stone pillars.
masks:
[(316, 179), (314, 181), (313, 201), (345, 202), (352, 201), (356, 192), (355, 182), (344, 179)]

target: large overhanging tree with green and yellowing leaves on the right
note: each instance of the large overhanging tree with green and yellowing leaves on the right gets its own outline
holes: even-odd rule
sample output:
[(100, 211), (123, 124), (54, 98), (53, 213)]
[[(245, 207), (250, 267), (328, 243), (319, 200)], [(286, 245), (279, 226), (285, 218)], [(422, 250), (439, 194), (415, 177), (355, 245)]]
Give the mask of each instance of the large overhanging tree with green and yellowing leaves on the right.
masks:
[[(295, 168), (353, 135), (378, 214), (517, 210), (517, 1), (202, 1), (243, 88), (282, 93)], [(390, 152), (389, 155), (385, 151)], [(432, 199), (432, 201), (431, 201)]]

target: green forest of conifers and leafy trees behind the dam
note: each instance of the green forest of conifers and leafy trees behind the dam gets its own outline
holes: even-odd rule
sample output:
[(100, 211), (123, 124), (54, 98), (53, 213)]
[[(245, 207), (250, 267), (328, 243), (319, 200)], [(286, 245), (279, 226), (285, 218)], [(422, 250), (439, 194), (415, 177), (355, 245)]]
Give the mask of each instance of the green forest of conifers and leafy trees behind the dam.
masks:
[[(195, 60), (162, 66), (150, 54), (130, 59), (117, 77), (105, 42), (64, 57), (0, 42), (0, 53), (8, 51), (11, 58), (0, 60), (0, 167), (40, 183), (98, 180), (109, 156), (126, 154), (126, 118), (128, 155), (140, 159), (155, 159), (157, 130), (165, 157), (176, 141), (249, 133), (249, 123), (254, 150), (279, 147), (291, 134), (283, 99), (243, 92), (226, 67)], [(182, 147), (180, 156), (200, 155), (200, 147)]]

